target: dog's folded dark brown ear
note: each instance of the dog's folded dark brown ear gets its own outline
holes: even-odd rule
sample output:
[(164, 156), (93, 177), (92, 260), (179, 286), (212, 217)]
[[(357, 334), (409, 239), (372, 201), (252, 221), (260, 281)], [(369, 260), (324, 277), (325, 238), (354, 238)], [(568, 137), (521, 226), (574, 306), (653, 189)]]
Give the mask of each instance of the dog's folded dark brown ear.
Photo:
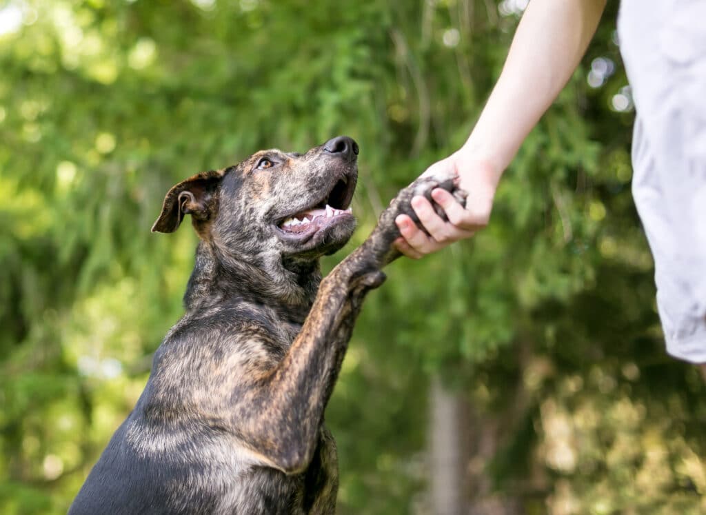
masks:
[(196, 220), (208, 220), (213, 214), (213, 197), (223, 178), (224, 170), (202, 172), (179, 182), (167, 192), (162, 213), (152, 225), (152, 232), (174, 232), (184, 215)]

